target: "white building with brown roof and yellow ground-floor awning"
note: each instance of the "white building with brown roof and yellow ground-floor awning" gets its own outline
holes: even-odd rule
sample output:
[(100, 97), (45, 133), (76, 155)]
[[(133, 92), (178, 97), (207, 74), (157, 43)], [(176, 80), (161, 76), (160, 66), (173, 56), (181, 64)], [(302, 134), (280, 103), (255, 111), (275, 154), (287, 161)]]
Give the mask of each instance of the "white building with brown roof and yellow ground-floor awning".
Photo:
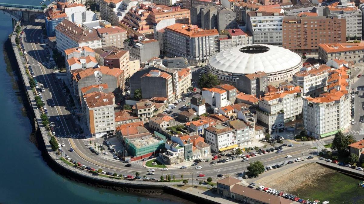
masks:
[(222, 124), (205, 128), (205, 142), (215, 153), (238, 147), (236, 130)]

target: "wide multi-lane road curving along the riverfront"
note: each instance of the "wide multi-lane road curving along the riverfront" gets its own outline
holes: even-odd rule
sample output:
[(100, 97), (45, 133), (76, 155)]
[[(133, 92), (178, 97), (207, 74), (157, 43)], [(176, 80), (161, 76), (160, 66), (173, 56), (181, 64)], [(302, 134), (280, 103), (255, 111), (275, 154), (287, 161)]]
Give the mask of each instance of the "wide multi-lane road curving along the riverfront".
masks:
[[(75, 115), (70, 113), (70, 107), (68, 107), (67, 97), (63, 94), (62, 80), (67, 80), (63, 78), (58, 80), (60, 74), (53, 73), (52, 67), (48, 68), (51, 64), (49, 60), (49, 53), (47, 51), (47, 44), (42, 43), (41, 38), (41, 26), (42, 23), (34, 23), (28, 25), (25, 33), (23, 35), (24, 48), (28, 53), (29, 64), (32, 66), (32, 70), (36, 75), (38, 82), (42, 81), (45, 87), (45, 92), (41, 93), (46, 104), (48, 113), (50, 115), (50, 121), (55, 124), (55, 132), (59, 143), (64, 143), (66, 146), (62, 147), (64, 154), (67, 154), (72, 159), (80, 162), (91, 168), (99, 169), (102, 168), (106, 172), (116, 172), (117, 174), (123, 175), (134, 175), (135, 172), (141, 172), (141, 176), (147, 173), (148, 168), (142, 166), (142, 162), (132, 162), (132, 167), (125, 167), (125, 163), (119, 160), (112, 159), (111, 156), (98, 156), (88, 150), (89, 141), (81, 138), (73, 138), (72, 135), (79, 134), (78, 126), (75, 123)], [(26, 39), (26, 40), (25, 40)], [(35, 42), (40, 42), (36, 44)], [(361, 79), (360, 79), (361, 80)], [(360, 84), (357, 81), (355, 84)], [(359, 110), (359, 101), (363, 103), (363, 91), (361, 96), (356, 96), (356, 108), (358, 108), (358, 113), (361, 115), (363, 109)], [(54, 104), (55, 107), (51, 105)], [(361, 107), (361, 104), (360, 104)], [(361, 112), (360, 112), (361, 111)], [(357, 112), (357, 111), (356, 111)], [(59, 118), (59, 120), (57, 120)], [(82, 121), (82, 120), (81, 120)], [(358, 118), (359, 121), (359, 118)], [(353, 126), (354, 128), (354, 126)], [(358, 128), (355, 126), (355, 128)], [(72, 146), (71, 146), (72, 143)], [(294, 144), (294, 147), (284, 147), (284, 152), (281, 154), (264, 154), (252, 157), (249, 162), (261, 160), (265, 166), (272, 164), (279, 164), (284, 161), (293, 160), (286, 159), (286, 155), (292, 155), (294, 157), (301, 157), (303, 155), (308, 156), (314, 154), (314, 150), (309, 150), (312, 144)], [(71, 147), (75, 148), (74, 152), (68, 151)], [(111, 153), (109, 153), (111, 154)], [(179, 164), (179, 167), (183, 164)], [(217, 165), (211, 165), (209, 162), (201, 162), (198, 164), (201, 166), (201, 170), (194, 170), (194, 167), (188, 166), (186, 169), (170, 168), (168, 171), (155, 171), (154, 177), (158, 179), (161, 175), (179, 175), (183, 174), (184, 178), (196, 178), (198, 174), (205, 174), (206, 176), (215, 177), (217, 174), (229, 174), (236, 176), (237, 173), (243, 172), (248, 166), (248, 162), (241, 162), (241, 159), (234, 160), (226, 163), (219, 163)], [(284, 167), (283, 167), (284, 168)], [(279, 171), (279, 170), (275, 170)]]

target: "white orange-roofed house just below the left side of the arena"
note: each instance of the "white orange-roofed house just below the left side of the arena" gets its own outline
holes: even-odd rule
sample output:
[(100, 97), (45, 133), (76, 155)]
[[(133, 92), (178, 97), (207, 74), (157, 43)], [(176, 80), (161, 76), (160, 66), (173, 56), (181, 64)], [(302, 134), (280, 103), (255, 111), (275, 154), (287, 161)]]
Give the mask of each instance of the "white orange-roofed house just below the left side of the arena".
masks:
[(211, 88), (211, 89), (203, 89), (202, 97), (205, 99), (206, 103), (208, 103), (212, 109), (215, 109), (217, 112), (221, 107), (225, 107), (230, 105), (230, 101), (227, 100), (226, 90)]

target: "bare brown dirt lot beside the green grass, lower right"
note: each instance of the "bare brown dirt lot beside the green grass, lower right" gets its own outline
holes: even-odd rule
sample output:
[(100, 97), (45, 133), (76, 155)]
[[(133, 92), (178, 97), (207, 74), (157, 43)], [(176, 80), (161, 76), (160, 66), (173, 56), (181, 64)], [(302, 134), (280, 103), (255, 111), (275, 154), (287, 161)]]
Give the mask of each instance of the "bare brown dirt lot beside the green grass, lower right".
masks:
[(256, 181), (269, 188), (280, 191), (292, 192), (298, 190), (302, 184), (314, 184), (316, 179), (335, 171), (316, 163), (303, 163), (286, 168), (270, 176), (265, 176)]

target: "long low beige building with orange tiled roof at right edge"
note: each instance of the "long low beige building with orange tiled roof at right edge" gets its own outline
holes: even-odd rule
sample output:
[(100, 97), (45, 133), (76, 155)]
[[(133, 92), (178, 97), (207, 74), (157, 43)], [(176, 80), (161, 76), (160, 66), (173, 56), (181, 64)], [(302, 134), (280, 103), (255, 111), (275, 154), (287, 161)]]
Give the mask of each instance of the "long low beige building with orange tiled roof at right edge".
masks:
[(335, 43), (319, 44), (318, 58), (324, 62), (339, 58), (354, 63), (364, 61), (364, 44), (363, 43)]

